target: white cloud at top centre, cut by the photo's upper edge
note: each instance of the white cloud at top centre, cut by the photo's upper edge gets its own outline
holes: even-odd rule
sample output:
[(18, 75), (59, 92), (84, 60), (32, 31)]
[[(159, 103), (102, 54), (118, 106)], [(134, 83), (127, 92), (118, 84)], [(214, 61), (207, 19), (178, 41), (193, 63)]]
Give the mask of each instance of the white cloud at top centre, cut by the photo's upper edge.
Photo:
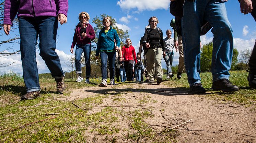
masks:
[(137, 9), (137, 12), (144, 10), (154, 11), (157, 9), (168, 9), (170, 0), (120, 0), (117, 5), (122, 10), (130, 11), (131, 9)]

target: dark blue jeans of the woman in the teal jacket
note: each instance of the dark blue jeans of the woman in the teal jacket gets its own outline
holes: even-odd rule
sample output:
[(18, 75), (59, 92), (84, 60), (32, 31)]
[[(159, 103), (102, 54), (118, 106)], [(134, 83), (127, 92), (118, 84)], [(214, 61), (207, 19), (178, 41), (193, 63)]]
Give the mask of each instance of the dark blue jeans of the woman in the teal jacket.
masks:
[(101, 56), (101, 77), (107, 79), (107, 60), (109, 63), (110, 80), (115, 78), (116, 52), (100, 52)]

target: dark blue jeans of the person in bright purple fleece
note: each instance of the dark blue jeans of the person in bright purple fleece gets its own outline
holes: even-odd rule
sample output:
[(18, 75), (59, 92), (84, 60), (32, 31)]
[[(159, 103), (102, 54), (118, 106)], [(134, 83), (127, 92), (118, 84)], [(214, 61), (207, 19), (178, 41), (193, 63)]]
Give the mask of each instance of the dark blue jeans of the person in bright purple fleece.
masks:
[(39, 91), (39, 77), (36, 62), (36, 43), (39, 34), (39, 55), (54, 78), (65, 76), (56, 49), (58, 18), (49, 16), (19, 17), (20, 49), (23, 78), (26, 91)]

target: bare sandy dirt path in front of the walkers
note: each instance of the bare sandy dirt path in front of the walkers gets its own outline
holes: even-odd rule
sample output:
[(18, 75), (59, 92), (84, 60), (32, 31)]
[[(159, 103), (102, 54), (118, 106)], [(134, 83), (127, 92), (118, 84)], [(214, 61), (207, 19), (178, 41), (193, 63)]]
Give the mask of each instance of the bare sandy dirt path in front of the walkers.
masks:
[[(174, 127), (192, 119), (189, 123), (177, 127), (176, 130), (180, 133), (176, 138), (178, 142), (256, 142), (256, 111), (232, 102), (210, 100), (207, 94), (189, 95), (182, 90), (163, 84), (121, 83), (115, 86), (76, 89), (71, 93), (69, 100), (109, 94), (100, 106), (137, 105), (140, 101), (144, 105), (143, 108), (153, 109), (153, 117), (145, 121), (156, 132), (164, 129), (161, 126)], [(126, 102), (113, 102), (116, 95), (124, 98)], [(121, 109), (129, 112), (138, 107)], [(99, 110), (101, 109), (97, 109)], [(120, 128), (122, 126), (127, 126), (125, 120), (120, 121)], [(120, 133), (119, 137), (122, 136)], [(95, 141), (90, 135), (88, 139), (89, 142)], [(130, 141), (118, 139), (117, 142)]]

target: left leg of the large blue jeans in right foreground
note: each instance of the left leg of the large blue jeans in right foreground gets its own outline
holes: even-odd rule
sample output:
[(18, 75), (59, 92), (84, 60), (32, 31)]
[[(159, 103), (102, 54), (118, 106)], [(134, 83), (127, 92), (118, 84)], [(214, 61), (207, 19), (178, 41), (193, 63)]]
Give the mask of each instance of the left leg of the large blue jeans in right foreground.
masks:
[(201, 83), (200, 73), (200, 30), (208, 1), (185, 1), (182, 18), (182, 41), (184, 61), (190, 86)]

